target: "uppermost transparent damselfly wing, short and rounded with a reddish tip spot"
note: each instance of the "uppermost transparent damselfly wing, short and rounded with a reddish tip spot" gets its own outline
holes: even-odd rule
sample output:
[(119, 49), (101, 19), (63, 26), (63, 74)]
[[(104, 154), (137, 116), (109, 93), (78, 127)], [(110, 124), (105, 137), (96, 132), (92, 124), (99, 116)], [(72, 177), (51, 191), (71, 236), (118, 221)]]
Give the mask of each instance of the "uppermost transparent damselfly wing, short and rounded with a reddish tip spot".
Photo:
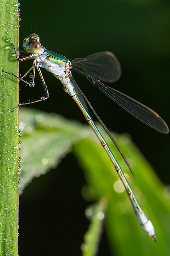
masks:
[(86, 58), (77, 58), (71, 61), (75, 67), (107, 83), (116, 82), (121, 76), (121, 66), (116, 56), (108, 51), (95, 53)]

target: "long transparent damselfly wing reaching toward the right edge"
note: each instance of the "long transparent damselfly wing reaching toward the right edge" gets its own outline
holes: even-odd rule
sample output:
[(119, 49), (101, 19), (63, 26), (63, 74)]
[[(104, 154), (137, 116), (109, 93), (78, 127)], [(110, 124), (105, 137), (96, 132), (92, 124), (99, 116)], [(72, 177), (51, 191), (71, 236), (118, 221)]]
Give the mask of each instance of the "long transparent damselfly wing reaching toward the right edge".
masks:
[(121, 106), (124, 110), (128, 111), (131, 115), (135, 116), (141, 122), (145, 123), (146, 125), (154, 128), (159, 132), (169, 132), (169, 128), (165, 121), (152, 109), (121, 93), (120, 91), (104, 85), (94, 77), (87, 75), (82, 70), (76, 67), (72, 67), (72, 69), (84, 75), (92, 84), (94, 84), (100, 91), (102, 91), (102, 93), (115, 101), (119, 106)]

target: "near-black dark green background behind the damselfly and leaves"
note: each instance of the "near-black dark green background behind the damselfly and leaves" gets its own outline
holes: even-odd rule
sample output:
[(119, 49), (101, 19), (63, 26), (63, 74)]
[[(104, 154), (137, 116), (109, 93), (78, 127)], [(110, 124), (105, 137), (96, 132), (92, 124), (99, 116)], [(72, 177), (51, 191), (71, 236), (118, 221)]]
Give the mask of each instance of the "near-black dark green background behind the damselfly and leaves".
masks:
[[(23, 39), (32, 29), (43, 46), (70, 60), (104, 50), (113, 52), (121, 63), (122, 76), (110, 86), (146, 104), (170, 125), (169, 1), (30, 0), (20, 3), (20, 50)], [(21, 63), (21, 72), (27, 71), (29, 65), (31, 62)], [(60, 82), (45, 70), (43, 75), (50, 99), (27, 107), (56, 112), (85, 123), (79, 108), (64, 93)], [(170, 135), (144, 125), (102, 95), (84, 77), (74, 73), (73, 76), (107, 127), (114, 132), (129, 133), (159, 178), (168, 185)], [(41, 95), (41, 83), (38, 82), (37, 77), (36, 88), (20, 84), (20, 101)], [(70, 162), (74, 163), (72, 170)], [(35, 179), (20, 197), (20, 255), (81, 255), (80, 244), (88, 226), (84, 217), (87, 202), (81, 196), (84, 176), (78, 166), (75, 168), (76, 163), (77, 160), (68, 155), (57, 170)], [(60, 205), (56, 212), (53, 210), (55, 200)], [(70, 211), (64, 215), (61, 210), (66, 205)], [(48, 209), (46, 214), (44, 208)], [(54, 220), (58, 223), (57, 228)], [(105, 238), (102, 243), (99, 255), (109, 255)]]

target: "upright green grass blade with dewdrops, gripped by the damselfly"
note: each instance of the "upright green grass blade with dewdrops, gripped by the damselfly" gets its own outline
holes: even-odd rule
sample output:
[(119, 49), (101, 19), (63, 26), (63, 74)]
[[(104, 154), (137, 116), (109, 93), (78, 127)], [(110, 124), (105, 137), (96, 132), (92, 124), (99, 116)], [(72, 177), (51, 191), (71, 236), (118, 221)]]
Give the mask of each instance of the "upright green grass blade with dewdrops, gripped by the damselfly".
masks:
[(0, 255), (18, 255), (18, 74), (9, 36), (18, 45), (18, 7), (14, 0), (0, 1)]

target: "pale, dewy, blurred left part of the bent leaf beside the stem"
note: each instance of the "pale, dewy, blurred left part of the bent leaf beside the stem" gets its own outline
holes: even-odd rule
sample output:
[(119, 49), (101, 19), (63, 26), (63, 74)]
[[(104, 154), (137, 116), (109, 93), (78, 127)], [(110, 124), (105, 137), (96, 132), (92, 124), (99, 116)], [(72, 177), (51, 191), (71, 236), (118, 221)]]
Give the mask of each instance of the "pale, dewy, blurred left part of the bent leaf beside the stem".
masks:
[(71, 150), (72, 145), (86, 137), (86, 126), (68, 121), (56, 114), (21, 108), (22, 134), (20, 193), (34, 177), (56, 167)]

